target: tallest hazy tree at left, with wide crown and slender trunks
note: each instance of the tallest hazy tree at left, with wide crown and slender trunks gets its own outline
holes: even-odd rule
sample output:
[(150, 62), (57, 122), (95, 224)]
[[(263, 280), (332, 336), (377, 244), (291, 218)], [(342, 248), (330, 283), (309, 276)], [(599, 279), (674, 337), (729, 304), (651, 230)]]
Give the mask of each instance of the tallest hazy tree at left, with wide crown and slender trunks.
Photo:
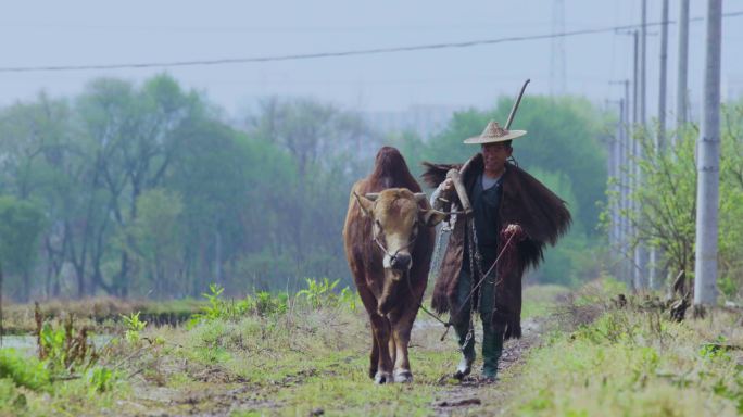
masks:
[[(178, 146), (174, 132), (188, 121), (203, 115), (198, 94), (186, 93), (167, 75), (155, 76), (141, 89), (117, 79), (97, 79), (77, 101), (83, 116), (83, 129), (97, 162), (92, 173), (93, 186), (104, 187), (109, 193), (109, 210), (118, 227), (126, 227), (137, 218), (137, 199), (147, 189), (162, 181)], [(98, 242), (110, 232), (97, 230)], [(101, 276), (104, 245), (96, 248), (93, 282), (106, 289)], [(129, 258), (122, 251), (119, 270), (111, 291), (121, 296), (128, 293)]]

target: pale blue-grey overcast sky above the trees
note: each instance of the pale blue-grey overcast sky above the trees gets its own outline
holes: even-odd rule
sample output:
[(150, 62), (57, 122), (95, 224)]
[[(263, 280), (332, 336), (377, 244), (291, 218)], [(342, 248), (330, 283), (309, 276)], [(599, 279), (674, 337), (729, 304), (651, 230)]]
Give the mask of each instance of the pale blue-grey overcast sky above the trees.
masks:
[[(671, 0), (670, 18), (678, 18)], [(136, 64), (275, 56), (373, 48), (547, 35), (553, 0), (520, 1), (3, 1), (0, 67)], [(565, 30), (640, 22), (640, 0), (564, 0)], [(648, 0), (648, 22), (660, 20), (660, 0)], [(706, 1), (691, 1), (704, 16)], [(743, 10), (727, 1), (723, 12)], [(659, 27), (647, 39), (647, 109), (656, 113)], [(669, 27), (669, 109), (676, 97), (676, 25)], [(723, 18), (722, 89), (743, 91), (743, 16)], [(691, 24), (693, 100), (702, 90), (705, 23)], [(0, 104), (81, 91), (100, 76), (139, 81), (167, 71), (205, 92), (232, 115), (269, 94), (304, 96), (362, 111), (411, 105), (488, 106), (515, 96), (531, 78), (530, 93), (551, 89), (550, 39), (470, 48), (362, 56), (173, 68), (77, 72), (0, 72)], [(596, 102), (618, 99), (609, 80), (628, 78), (631, 37), (604, 33), (564, 39), (566, 90)]]

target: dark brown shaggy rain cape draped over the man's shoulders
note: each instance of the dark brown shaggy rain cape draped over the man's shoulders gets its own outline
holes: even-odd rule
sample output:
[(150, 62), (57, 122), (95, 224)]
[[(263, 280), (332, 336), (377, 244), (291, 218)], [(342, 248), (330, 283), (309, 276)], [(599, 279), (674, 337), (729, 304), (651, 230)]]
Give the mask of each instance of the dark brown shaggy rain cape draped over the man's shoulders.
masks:
[[(423, 179), (430, 187), (438, 187), (451, 168), (462, 169), (462, 181), (471, 195), (475, 181), (483, 170), (482, 154), (478, 153), (467, 163), (432, 164), (424, 162), (426, 172)], [(498, 252), (502, 250), (505, 235), (503, 230), (509, 224), (521, 226), (526, 237), (522, 240), (512, 240), (504, 251), (496, 266), (495, 309), (493, 311), (493, 326), (504, 328), (504, 338), (521, 337), (521, 277), (528, 267), (537, 267), (544, 260), (544, 245), (554, 245), (557, 238), (563, 236), (570, 226), (570, 212), (565, 201), (555, 195), (531, 175), (514, 164), (507, 163), (503, 174), (503, 194), (499, 208), (499, 224), (493, 227), (499, 230)], [(458, 198), (453, 195), (453, 204), (461, 206)], [(449, 238), (446, 252), (441, 261), (439, 276), (433, 287), (431, 306), (439, 313), (459, 312), (457, 305), (457, 282), (462, 269), (462, 258), (465, 243), (464, 215), (457, 216), (454, 228)], [(490, 265), (483, 265), (488, 268)], [(468, 314), (462, 312), (461, 314)]]

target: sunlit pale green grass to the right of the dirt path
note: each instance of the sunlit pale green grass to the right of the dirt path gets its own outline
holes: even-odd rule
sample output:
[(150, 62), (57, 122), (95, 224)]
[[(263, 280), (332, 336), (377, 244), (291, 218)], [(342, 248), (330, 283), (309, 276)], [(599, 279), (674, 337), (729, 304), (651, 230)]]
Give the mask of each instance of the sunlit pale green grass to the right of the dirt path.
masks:
[[(594, 304), (595, 306), (595, 304)], [(576, 309), (579, 311), (579, 309)], [(504, 378), (524, 416), (734, 416), (743, 413), (740, 312), (673, 323), (639, 305), (604, 307), (555, 332)], [(580, 321), (580, 320), (578, 320)]]

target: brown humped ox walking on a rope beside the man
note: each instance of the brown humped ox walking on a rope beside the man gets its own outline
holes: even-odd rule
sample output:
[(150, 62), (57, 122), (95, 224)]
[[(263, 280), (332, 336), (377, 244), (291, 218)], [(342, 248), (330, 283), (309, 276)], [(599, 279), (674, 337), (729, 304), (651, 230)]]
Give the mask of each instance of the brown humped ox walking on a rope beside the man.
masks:
[(443, 213), (429, 207), (400, 152), (383, 147), (374, 172), (351, 191), (345, 256), (372, 321), (369, 377), (413, 380), (407, 344), (426, 290), (435, 231)]

